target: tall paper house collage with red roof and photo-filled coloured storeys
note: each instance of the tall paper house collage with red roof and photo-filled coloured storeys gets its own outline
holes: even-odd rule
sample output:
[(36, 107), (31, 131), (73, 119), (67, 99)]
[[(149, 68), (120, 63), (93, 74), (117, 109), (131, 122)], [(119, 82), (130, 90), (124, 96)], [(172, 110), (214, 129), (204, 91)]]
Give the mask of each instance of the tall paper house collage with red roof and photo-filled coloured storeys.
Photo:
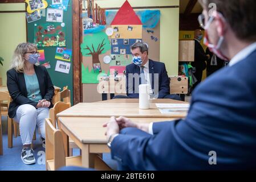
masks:
[(125, 66), (131, 64), (131, 49), (136, 40), (142, 39), (142, 23), (128, 1), (117, 11), (111, 22), (114, 34), (111, 36), (110, 75), (123, 75)]

